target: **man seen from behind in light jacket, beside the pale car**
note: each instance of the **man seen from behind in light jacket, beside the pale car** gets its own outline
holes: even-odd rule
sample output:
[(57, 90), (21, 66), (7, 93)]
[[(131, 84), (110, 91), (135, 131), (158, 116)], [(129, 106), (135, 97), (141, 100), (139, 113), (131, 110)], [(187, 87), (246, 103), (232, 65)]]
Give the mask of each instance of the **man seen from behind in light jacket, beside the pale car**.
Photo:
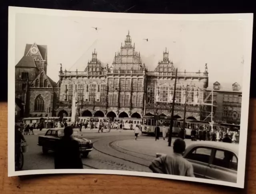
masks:
[(173, 155), (162, 155), (152, 161), (149, 169), (154, 173), (194, 177), (192, 164), (182, 157), (186, 143), (178, 138), (173, 144)]

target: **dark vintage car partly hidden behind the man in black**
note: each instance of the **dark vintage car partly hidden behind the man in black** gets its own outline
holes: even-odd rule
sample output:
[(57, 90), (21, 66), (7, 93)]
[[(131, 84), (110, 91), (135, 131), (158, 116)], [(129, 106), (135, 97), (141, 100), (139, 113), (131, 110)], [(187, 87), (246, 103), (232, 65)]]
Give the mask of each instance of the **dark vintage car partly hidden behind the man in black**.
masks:
[[(38, 144), (42, 146), (44, 154), (48, 153), (49, 150), (55, 151), (56, 142), (64, 136), (64, 128), (53, 128), (46, 131), (44, 136), (38, 137)], [(82, 137), (79, 131), (74, 130), (72, 137), (78, 141), (80, 145), (80, 153), (83, 157), (87, 157), (89, 152), (92, 151), (92, 141)]]

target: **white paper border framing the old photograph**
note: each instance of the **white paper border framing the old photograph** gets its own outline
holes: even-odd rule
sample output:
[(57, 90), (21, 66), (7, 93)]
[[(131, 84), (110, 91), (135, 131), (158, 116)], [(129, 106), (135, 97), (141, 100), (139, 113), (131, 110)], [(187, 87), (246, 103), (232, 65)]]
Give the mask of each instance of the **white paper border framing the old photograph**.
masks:
[[(122, 19), (139, 19), (139, 20), (186, 20), (186, 21), (237, 21), (244, 23), (244, 73), (242, 84), (242, 108), (240, 127), (243, 130), (240, 133), (239, 157), (237, 182), (225, 182), (219, 180), (209, 180), (204, 178), (192, 178), (185, 176), (175, 176), (168, 174), (155, 174), (150, 172), (136, 172), (123, 170), (92, 170), (92, 169), (48, 169), (48, 170), (23, 170), (15, 171), (14, 168), (14, 123), (15, 123), (15, 16), (16, 14), (41, 14), (48, 16), (76, 16), (86, 18), (122, 18)], [(247, 147), (247, 128), (249, 112), (249, 95), (250, 95), (250, 72), (252, 57), (252, 27), (253, 14), (124, 14), (108, 12), (83, 12), (70, 10), (50, 10), (38, 8), (21, 8), (9, 7), (8, 18), (8, 176), (20, 176), (30, 174), (60, 174), (60, 173), (86, 173), (86, 174), (121, 174), (132, 176), (147, 176), (156, 178), (168, 178), (176, 180), (187, 180), (194, 182), (204, 182), (244, 188), (245, 164), (246, 164), (246, 147)]]

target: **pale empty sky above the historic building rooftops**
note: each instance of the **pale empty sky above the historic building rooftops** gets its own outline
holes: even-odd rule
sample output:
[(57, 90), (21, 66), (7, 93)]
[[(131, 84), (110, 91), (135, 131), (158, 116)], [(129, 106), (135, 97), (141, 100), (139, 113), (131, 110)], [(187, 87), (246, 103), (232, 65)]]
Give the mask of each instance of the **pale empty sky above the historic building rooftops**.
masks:
[(234, 20), (134, 20), (16, 14), (15, 63), (24, 56), (26, 43), (47, 45), (47, 74), (57, 82), (59, 63), (63, 70), (84, 71), (94, 49), (102, 66), (106, 63), (111, 66), (129, 30), (132, 44), (140, 51), (142, 63), (148, 70), (154, 71), (166, 47), (178, 71), (202, 72), (207, 63), (209, 83), (238, 82), (242, 86), (243, 25)]

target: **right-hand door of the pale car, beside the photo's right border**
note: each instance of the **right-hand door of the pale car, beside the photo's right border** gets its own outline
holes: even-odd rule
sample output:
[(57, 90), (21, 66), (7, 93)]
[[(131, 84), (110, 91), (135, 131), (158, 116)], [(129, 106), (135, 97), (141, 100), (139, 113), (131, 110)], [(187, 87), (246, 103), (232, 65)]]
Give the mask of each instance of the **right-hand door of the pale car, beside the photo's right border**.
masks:
[(214, 150), (214, 157), (206, 170), (206, 178), (236, 182), (238, 157), (226, 150)]

